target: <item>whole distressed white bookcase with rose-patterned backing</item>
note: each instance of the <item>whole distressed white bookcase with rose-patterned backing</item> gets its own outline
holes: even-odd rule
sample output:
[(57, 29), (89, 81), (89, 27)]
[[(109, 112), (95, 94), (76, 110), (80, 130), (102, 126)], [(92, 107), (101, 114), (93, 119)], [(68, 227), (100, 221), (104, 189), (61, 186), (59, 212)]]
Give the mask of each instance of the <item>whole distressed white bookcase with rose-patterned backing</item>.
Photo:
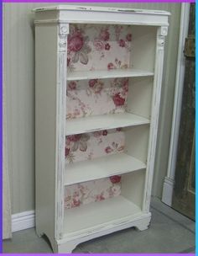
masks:
[(37, 233), (70, 253), (147, 229), (169, 13), (34, 12)]

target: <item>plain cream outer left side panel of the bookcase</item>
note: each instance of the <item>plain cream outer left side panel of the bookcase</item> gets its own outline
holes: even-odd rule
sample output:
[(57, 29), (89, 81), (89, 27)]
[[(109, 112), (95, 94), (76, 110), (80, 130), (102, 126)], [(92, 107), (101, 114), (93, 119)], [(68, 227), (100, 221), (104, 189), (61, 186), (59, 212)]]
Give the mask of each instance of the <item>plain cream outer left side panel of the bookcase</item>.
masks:
[(53, 248), (57, 225), (55, 195), (59, 146), (58, 29), (55, 24), (35, 27), (36, 230), (39, 235), (45, 234), (50, 238)]

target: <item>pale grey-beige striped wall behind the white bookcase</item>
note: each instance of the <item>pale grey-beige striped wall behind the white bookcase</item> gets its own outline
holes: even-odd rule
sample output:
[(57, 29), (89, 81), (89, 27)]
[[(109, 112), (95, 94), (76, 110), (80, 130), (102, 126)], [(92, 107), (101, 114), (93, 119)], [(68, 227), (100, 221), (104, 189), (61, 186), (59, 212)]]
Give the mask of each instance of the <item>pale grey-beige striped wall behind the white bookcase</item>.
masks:
[[(50, 4), (3, 4), (8, 168), (13, 213), (34, 210), (34, 14), (31, 13), (31, 9)], [(172, 14), (169, 18), (169, 35), (166, 38), (164, 54), (164, 79), (153, 187), (153, 195), (160, 197), (169, 154), (180, 3), (92, 3), (91, 5), (162, 9)]]

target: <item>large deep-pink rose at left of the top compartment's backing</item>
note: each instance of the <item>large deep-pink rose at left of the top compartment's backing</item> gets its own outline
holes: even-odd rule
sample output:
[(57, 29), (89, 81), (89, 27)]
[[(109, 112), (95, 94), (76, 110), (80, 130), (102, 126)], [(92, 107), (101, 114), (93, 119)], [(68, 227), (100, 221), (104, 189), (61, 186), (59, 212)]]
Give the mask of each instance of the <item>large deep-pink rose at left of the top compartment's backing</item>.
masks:
[(69, 51), (80, 51), (84, 44), (83, 37), (81, 33), (78, 31), (74, 33), (74, 35), (68, 36), (68, 49)]

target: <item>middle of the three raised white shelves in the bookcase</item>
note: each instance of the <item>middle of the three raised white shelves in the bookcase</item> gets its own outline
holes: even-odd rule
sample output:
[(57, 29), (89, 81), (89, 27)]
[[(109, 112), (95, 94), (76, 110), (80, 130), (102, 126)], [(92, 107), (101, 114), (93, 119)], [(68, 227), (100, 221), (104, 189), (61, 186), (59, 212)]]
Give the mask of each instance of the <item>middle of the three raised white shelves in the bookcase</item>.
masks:
[(150, 120), (142, 116), (126, 112), (109, 115), (92, 115), (66, 120), (66, 136), (149, 123)]

